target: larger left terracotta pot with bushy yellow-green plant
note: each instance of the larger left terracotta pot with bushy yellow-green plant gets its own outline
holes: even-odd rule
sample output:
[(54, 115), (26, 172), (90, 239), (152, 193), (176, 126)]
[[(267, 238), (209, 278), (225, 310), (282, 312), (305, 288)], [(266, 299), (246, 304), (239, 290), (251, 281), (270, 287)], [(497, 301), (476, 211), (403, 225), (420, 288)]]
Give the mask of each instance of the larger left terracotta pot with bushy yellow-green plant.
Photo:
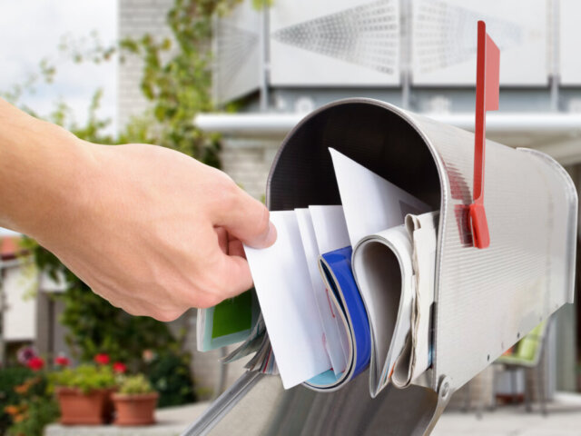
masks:
[(109, 365), (83, 364), (52, 374), (64, 425), (99, 425), (109, 421), (116, 380)]

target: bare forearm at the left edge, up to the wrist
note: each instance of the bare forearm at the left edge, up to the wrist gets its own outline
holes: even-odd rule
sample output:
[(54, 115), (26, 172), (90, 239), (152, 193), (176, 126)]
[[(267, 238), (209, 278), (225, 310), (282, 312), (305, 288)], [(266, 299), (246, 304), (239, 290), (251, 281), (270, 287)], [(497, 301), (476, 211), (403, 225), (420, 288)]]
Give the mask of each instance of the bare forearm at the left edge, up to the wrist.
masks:
[(88, 146), (0, 99), (0, 226), (41, 238), (74, 213)]

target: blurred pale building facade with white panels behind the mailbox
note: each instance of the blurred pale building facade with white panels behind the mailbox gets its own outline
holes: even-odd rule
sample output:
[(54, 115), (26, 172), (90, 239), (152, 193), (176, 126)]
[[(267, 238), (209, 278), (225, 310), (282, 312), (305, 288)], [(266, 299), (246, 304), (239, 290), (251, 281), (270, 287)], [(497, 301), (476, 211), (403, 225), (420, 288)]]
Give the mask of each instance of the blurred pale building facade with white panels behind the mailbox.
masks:
[[(169, 35), (172, 0), (120, 0), (119, 35)], [(201, 115), (223, 134), (222, 169), (262, 199), (281, 140), (300, 117), (340, 98), (377, 98), (470, 130), (476, 23), (501, 49), (500, 113), (488, 137), (551, 154), (581, 177), (581, 27), (574, 0), (247, 0), (214, 25), (217, 107), (244, 97), (240, 115)], [(119, 68), (120, 125), (146, 107), (140, 65)], [(552, 352), (558, 389), (576, 389), (577, 305), (556, 316)], [(192, 323), (193, 326), (193, 323)], [(195, 334), (192, 334), (192, 341)], [(194, 356), (194, 372), (215, 374), (215, 355)], [(238, 370), (235, 371), (238, 373)]]

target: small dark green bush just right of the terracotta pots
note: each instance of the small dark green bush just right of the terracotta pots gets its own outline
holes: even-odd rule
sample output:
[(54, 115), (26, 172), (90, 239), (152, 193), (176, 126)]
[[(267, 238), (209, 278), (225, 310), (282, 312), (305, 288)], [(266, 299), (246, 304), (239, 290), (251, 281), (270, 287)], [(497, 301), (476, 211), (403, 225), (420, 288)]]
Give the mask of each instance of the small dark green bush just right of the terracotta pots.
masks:
[(160, 393), (159, 407), (195, 400), (189, 355), (163, 352), (150, 363), (146, 373), (153, 389)]

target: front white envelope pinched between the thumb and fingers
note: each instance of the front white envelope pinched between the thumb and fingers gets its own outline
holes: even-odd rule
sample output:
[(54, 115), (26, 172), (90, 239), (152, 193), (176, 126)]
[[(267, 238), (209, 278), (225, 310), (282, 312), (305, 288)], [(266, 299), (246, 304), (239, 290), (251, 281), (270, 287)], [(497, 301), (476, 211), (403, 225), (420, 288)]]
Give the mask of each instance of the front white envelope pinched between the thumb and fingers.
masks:
[(271, 212), (278, 233), (271, 247), (244, 247), (272, 351), (289, 389), (330, 369), (322, 323), (294, 211)]

